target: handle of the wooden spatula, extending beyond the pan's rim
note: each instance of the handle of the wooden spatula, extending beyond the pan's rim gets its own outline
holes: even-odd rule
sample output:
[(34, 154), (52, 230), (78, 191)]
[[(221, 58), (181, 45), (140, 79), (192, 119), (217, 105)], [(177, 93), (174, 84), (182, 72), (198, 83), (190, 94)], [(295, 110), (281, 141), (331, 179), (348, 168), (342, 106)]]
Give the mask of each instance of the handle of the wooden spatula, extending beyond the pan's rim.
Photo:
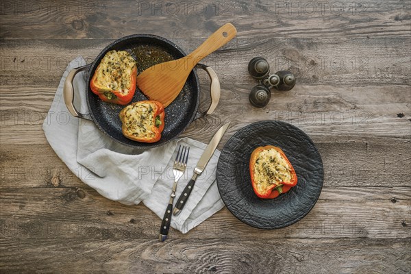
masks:
[(205, 58), (210, 53), (216, 51), (217, 49), (223, 47), (237, 34), (237, 29), (231, 23), (227, 23), (220, 27), (211, 36), (207, 38), (197, 49), (192, 51), (188, 56), (192, 58), (194, 67), (198, 62)]

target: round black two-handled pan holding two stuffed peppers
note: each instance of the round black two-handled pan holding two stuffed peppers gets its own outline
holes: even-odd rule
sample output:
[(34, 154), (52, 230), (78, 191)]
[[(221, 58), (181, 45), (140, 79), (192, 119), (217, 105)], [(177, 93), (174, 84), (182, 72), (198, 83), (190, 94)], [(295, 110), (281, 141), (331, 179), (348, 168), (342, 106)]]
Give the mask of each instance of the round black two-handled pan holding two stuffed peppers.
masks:
[[(105, 49), (99, 53), (94, 62), (87, 64), (86, 66), (73, 69), (66, 77), (63, 90), (64, 101), (69, 112), (73, 116), (93, 121), (103, 133), (110, 136), (110, 138), (116, 142), (139, 149), (147, 149), (150, 147), (164, 145), (166, 142), (173, 140), (173, 138), (181, 134), (194, 119), (198, 119), (205, 114), (211, 114), (214, 112), (220, 98), (219, 79), (210, 67), (199, 64), (197, 67), (206, 70), (211, 78), (210, 93), (212, 103), (210, 108), (203, 113), (197, 112), (200, 100), (200, 85), (197, 72), (194, 69), (188, 76), (182, 92), (180, 92), (175, 101), (173, 101), (173, 103), (165, 109), (165, 126), (164, 131), (162, 132), (162, 138), (158, 142), (153, 143), (136, 142), (125, 138), (121, 132), (121, 121), (119, 118), (119, 112), (125, 108), (125, 105), (116, 105), (114, 103), (106, 103), (101, 101), (101, 99), (99, 99), (99, 97), (90, 90), (90, 79), (92, 78), (92, 75), (94, 75), (95, 70), (97, 69), (101, 59), (103, 59), (105, 53), (112, 49), (117, 51), (128, 51), (137, 62), (138, 73), (141, 73), (154, 64), (182, 58), (186, 55), (184, 51), (177, 47), (177, 45), (173, 42), (160, 36), (150, 34), (125, 36), (112, 42), (112, 44), (105, 47)], [(80, 71), (86, 71), (86, 98), (90, 114), (79, 113), (73, 105), (73, 79)], [(159, 81), (161, 81), (161, 79), (159, 79)], [(80, 90), (80, 92), (82, 92), (82, 90)], [(142, 100), (147, 100), (147, 97), (145, 97), (145, 95), (143, 95), (137, 87), (132, 102)]]

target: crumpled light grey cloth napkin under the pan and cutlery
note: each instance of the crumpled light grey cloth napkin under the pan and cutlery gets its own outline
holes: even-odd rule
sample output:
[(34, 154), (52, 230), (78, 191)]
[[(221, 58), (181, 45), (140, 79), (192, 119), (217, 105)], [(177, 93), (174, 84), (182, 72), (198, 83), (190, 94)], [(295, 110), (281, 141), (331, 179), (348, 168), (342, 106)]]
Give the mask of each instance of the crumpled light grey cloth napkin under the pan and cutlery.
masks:
[[(84, 184), (95, 188), (104, 197), (126, 205), (142, 202), (162, 219), (173, 186), (176, 148), (186, 145), (190, 147), (190, 155), (186, 173), (177, 185), (175, 202), (190, 181), (206, 144), (181, 138), (142, 151), (116, 143), (94, 123), (71, 116), (62, 94), (64, 80), (71, 69), (85, 64), (79, 56), (67, 66), (42, 126), (45, 136), (58, 157)], [(77, 110), (88, 113), (84, 72), (76, 75), (73, 87)], [(216, 150), (203, 174), (197, 178), (186, 206), (178, 216), (173, 216), (171, 227), (186, 233), (223, 208), (216, 186), (219, 155), (220, 151)], [(160, 231), (160, 227), (158, 229)]]

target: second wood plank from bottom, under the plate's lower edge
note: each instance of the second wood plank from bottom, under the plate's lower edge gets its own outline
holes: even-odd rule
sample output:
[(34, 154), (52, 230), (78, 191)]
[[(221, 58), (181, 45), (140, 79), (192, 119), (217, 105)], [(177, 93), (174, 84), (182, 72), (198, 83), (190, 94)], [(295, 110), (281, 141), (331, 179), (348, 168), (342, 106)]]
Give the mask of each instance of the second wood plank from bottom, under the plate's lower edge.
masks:
[[(1, 188), (0, 238), (158, 238), (160, 219), (145, 206), (123, 206), (87, 186)], [(410, 188), (325, 187), (295, 225), (262, 230), (227, 209), (177, 238), (410, 238)], [(164, 208), (166, 204), (164, 203)]]

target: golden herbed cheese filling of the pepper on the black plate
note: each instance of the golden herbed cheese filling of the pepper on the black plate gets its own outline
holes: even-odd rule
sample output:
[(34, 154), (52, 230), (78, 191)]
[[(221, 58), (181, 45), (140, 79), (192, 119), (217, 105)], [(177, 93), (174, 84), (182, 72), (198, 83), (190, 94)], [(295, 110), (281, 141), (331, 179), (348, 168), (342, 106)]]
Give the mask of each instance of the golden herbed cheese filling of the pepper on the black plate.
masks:
[(254, 180), (258, 191), (265, 192), (266, 188), (292, 179), (288, 163), (275, 149), (265, 149), (258, 155), (254, 164)]

